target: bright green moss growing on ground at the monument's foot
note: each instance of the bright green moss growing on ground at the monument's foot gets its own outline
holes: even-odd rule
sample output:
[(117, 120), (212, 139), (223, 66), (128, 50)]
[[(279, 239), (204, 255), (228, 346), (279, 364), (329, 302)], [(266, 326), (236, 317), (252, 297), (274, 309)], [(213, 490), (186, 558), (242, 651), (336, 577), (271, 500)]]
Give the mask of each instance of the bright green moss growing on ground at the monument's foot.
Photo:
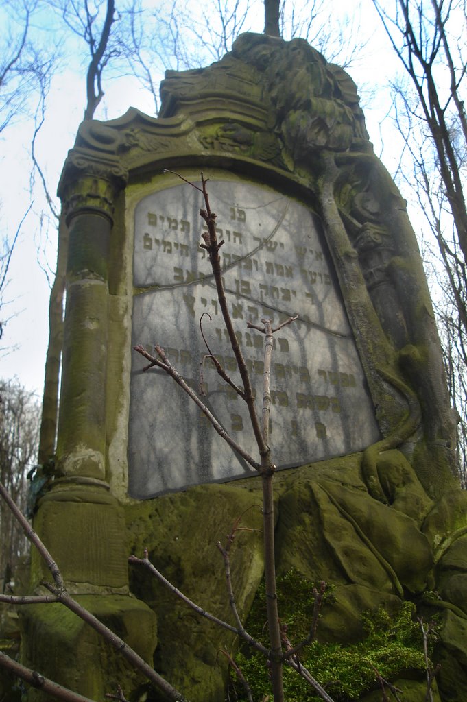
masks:
[[(329, 590), (328, 590), (329, 592)], [(289, 571), (277, 581), (279, 610), (292, 645), (308, 633), (313, 612), (313, 583), (298, 571)], [(332, 590), (327, 597), (333, 597)], [(323, 607), (326, 607), (324, 602)], [(362, 616), (364, 637), (349, 645), (322, 643), (318, 640), (305, 647), (300, 654), (301, 663), (320, 684), (324, 685), (336, 702), (358, 700), (375, 689), (376, 670), (384, 680), (396, 680), (409, 673), (422, 677), (426, 670), (423, 655), (423, 638), (419, 623), (414, 621), (415, 607), (404, 602), (396, 616), (380, 607)], [(254, 607), (246, 623), (249, 633), (263, 640), (266, 621), (264, 583), (258, 589)], [(345, 626), (345, 623), (343, 623)], [(242, 651), (236, 658), (239, 668), (251, 686), (253, 698), (263, 700), (271, 694), (268, 668), (261, 654)], [(242, 686), (232, 680), (232, 697), (246, 700)], [(319, 700), (313, 690), (297, 673), (284, 667), (284, 689), (287, 702)]]

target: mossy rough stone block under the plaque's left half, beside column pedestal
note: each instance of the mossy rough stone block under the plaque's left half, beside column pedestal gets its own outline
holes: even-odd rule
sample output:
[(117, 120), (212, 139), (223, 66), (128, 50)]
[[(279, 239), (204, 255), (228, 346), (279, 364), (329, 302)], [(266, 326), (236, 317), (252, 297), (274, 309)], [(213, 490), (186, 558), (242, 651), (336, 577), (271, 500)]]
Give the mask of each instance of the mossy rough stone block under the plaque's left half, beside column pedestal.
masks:
[[(246, 618), (263, 574), (256, 492), (232, 485), (193, 487), (128, 507), (126, 515), (136, 555), (147, 548), (154, 565), (173, 585), (229, 623), (234, 620), (216, 543), (225, 545), (227, 534), (241, 517), (231, 550), (231, 568), (237, 608)], [(131, 588), (157, 614), (157, 670), (189, 694), (192, 702), (223, 701), (226, 666), (218, 651), (235, 647), (234, 637), (199, 617), (147, 571), (135, 566)]]

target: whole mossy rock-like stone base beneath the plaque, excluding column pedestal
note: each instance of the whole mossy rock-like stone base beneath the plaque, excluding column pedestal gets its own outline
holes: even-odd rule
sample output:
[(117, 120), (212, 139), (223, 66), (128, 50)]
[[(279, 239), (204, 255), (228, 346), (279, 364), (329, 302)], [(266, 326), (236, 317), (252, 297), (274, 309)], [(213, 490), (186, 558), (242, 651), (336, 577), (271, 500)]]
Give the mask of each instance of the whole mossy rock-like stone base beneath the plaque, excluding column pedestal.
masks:
[[(407, 469), (397, 451), (388, 452), (384, 462), (387, 470), (390, 458), (394, 460), (397, 476), (397, 500), (407, 505), (410, 496), (416, 494), (422, 503), (413, 470)], [(401, 465), (407, 470), (401, 470)], [(355, 454), (279, 472), (275, 478), (279, 574), (296, 569), (310, 581), (317, 583), (324, 578), (329, 586), (334, 586), (318, 625), (317, 638), (322, 642), (345, 645), (360, 640), (364, 635), (364, 612), (383, 606), (395, 613), (411, 591), (416, 602), (423, 599), (424, 588), (442, 593), (441, 581), (435, 580), (432, 572), (433, 551), (421, 531), (419, 519), (409, 517), (393, 505), (375, 501), (365, 489), (361, 468), (362, 454)], [(202, 607), (209, 602), (210, 611), (228, 617), (220, 559), (212, 544), (218, 535), (222, 539), (227, 533), (236, 514), (260, 501), (261, 480), (248, 478), (230, 485), (192, 487), (186, 492), (129, 505), (126, 519), (131, 543), (137, 553), (143, 545), (148, 545), (154, 563), (172, 583)], [(427, 497), (425, 502), (430, 503)], [(435, 512), (439, 512), (439, 505), (435, 505)], [(415, 517), (419, 517), (418, 508)], [(242, 524), (257, 528), (259, 518), (253, 507), (244, 513)], [(232, 550), (235, 595), (245, 619), (261, 578), (261, 538), (256, 532), (246, 531), (239, 533), (236, 541), (238, 550)], [(456, 543), (460, 544), (461, 540)], [(449, 563), (459, 562), (463, 557), (460, 545), (452, 548), (454, 553)], [(446, 562), (448, 554), (449, 551)], [(223, 677), (213, 672), (211, 663), (225, 635), (191, 616), (171, 592), (147, 574), (133, 570), (131, 587), (157, 613), (157, 669), (179, 688), (189, 691), (190, 698), (196, 702), (223, 702)], [(433, 599), (429, 602), (428, 611), (423, 611), (426, 621), (435, 612), (443, 614), (443, 621), (449, 618), (447, 632), (442, 635), (435, 656), (435, 663), (443, 661), (446, 682), (440, 694), (435, 687), (434, 696), (437, 701), (448, 702), (451, 698), (446, 690), (450, 689), (452, 675), (458, 675), (459, 665), (463, 665), (459, 626), (465, 622), (446, 611), (451, 606), (449, 603), (437, 604)], [(176, 641), (174, 631), (177, 631)], [(449, 644), (453, 632), (454, 644)], [(235, 642), (230, 643), (235, 649)], [(453, 659), (446, 665), (449, 655)], [(467, 688), (462, 675), (460, 689), (464, 691)], [(404, 694), (407, 690), (407, 698), (423, 702), (426, 694), (423, 680), (417, 678), (413, 684), (406, 680), (399, 682)], [(378, 699), (371, 695), (363, 700)], [(459, 696), (459, 702), (460, 699)]]

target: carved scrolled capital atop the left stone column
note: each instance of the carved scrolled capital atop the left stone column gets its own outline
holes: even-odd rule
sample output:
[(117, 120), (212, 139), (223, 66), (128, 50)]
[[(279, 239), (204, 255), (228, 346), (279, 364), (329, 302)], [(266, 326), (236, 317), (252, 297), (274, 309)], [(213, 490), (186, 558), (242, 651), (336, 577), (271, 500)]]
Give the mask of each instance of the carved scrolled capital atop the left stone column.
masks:
[(67, 225), (84, 212), (103, 215), (113, 223), (114, 199), (127, 180), (128, 171), (118, 159), (96, 159), (86, 150), (71, 150), (58, 185)]

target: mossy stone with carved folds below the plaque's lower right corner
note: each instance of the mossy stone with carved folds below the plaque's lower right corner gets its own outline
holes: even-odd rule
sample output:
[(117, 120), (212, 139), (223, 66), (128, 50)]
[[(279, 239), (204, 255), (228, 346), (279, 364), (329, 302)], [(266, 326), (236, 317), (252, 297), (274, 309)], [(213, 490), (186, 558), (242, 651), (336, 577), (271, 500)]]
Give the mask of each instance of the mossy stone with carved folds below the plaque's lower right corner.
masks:
[[(360, 583), (400, 597), (404, 588), (426, 588), (433, 553), (413, 519), (375, 501), (361, 482), (346, 485), (347, 478), (322, 477), (319, 467), (313, 477), (310, 473), (297, 469), (281, 490), (282, 567), (296, 567), (312, 581)], [(410, 492), (413, 474), (407, 482)], [(402, 482), (399, 489), (402, 493)]]

